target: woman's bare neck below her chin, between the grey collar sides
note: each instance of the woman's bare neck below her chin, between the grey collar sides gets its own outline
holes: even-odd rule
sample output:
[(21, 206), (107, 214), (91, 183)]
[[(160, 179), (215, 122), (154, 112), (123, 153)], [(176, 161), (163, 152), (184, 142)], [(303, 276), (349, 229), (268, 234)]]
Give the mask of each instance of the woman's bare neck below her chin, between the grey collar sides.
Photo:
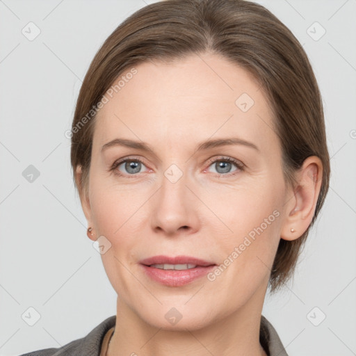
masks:
[(227, 316), (202, 327), (167, 330), (144, 321), (118, 297), (115, 332), (107, 356), (267, 356), (259, 343), (265, 296), (254, 296)]

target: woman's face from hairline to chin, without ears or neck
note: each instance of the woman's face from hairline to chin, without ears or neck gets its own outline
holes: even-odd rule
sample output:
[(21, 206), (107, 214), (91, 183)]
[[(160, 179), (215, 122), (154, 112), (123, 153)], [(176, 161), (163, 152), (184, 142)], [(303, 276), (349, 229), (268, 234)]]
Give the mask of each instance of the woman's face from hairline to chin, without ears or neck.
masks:
[[(264, 93), (211, 54), (135, 68), (97, 116), (83, 202), (120, 305), (156, 327), (191, 330), (260, 313), (293, 197)], [(141, 264), (158, 255), (216, 266), (190, 280), (193, 271)]]

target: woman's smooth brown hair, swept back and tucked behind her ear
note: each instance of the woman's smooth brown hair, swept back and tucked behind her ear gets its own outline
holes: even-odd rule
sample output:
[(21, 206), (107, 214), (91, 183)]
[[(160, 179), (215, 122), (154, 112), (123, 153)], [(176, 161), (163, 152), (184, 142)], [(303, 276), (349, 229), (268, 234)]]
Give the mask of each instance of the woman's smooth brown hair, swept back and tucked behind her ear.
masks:
[[(273, 108), (287, 184), (296, 186), (293, 173), (308, 156), (318, 156), (323, 163), (312, 223), (300, 238), (280, 239), (270, 274), (274, 292), (291, 277), (323, 206), (330, 163), (323, 104), (307, 54), (291, 31), (263, 6), (244, 0), (165, 0), (125, 19), (97, 51), (79, 92), (72, 123), (74, 184), (80, 195), (88, 194), (95, 108), (119, 74), (150, 60), (171, 63), (207, 52), (243, 67), (261, 85)], [(77, 166), (83, 172), (81, 181), (76, 181)]]

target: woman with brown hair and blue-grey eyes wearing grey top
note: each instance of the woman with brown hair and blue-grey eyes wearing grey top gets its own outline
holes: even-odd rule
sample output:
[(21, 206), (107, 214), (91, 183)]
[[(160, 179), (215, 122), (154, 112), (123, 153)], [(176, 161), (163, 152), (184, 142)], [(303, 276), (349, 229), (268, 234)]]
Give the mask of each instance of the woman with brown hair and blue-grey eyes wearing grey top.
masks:
[(71, 162), (117, 314), (26, 355), (287, 355), (261, 311), (330, 165), (312, 67), (273, 14), (167, 0), (131, 15), (83, 81)]

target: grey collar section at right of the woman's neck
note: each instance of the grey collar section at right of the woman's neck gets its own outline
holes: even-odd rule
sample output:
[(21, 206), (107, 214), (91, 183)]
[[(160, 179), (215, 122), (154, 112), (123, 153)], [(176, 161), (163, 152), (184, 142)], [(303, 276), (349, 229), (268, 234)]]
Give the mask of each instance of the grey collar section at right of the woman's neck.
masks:
[(261, 316), (259, 341), (268, 356), (288, 356), (277, 331), (263, 315)]

